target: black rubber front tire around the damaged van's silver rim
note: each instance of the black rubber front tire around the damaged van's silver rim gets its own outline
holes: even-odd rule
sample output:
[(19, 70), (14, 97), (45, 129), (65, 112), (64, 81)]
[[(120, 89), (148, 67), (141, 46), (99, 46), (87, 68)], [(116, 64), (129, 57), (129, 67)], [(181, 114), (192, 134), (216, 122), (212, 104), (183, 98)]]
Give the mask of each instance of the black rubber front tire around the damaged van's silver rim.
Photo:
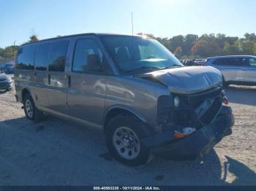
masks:
[[(129, 150), (129, 152), (132, 152), (135, 154), (132, 154), (133, 156), (136, 156), (134, 158), (130, 158), (127, 159), (125, 157), (123, 157), (119, 152), (121, 152), (120, 148), (119, 151), (118, 149), (116, 149), (116, 146), (114, 145), (114, 137), (116, 134), (116, 130), (119, 130), (120, 128), (127, 128), (129, 133), (133, 132), (135, 133), (134, 136), (136, 136), (138, 139), (134, 139), (134, 144), (135, 142), (137, 142), (137, 144), (139, 145), (138, 149), (132, 147), (132, 148), (124, 148)], [(129, 134), (127, 133), (127, 134)], [(126, 114), (118, 114), (116, 117), (113, 117), (112, 120), (110, 120), (110, 122), (108, 122), (108, 125), (106, 127), (105, 130), (105, 139), (106, 139), (106, 143), (107, 143), (107, 147), (108, 150), (110, 152), (110, 154), (119, 162), (124, 163), (126, 165), (143, 165), (146, 164), (148, 162), (149, 156), (150, 156), (150, 152), (148, 151), (148, 148), (143, 145), (143, 143), (140, 141), (143, 137), (147, 136), (146, 133), (146, 127), (145, 125), (143, 125), (142, 122), (140, 122), (140, 120), (138, 120), (136, 117), (133, 117), (131, 115), (126, 115)], [(124, 146), (124, 136), (122, 136), (123, 141), (121, 141), (121, 147), (125, 147)], [(137, 140), (137, 141), (136, 141)], [(135, 146), (136, 147), (136, 146)], [(126, 151), (127, 151), (126, 150)], [(137, 152), (136, 152), (137, 150)], [(129, 155), (128, 152), (128, 155)], [(136, 153), (135, 153), (136, 152)]]

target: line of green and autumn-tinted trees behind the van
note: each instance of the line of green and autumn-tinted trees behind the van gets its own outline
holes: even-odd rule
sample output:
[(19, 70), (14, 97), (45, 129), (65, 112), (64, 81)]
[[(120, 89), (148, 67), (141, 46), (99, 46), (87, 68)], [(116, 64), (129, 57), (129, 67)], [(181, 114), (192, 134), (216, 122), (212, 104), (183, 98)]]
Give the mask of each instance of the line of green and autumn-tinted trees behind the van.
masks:
[[(142, 33), (139, 34), (142, 35)], [(177, 58), (181, 59), (207, 58), (215, 55), (256, 55), (256, 35), (254, 33), (246, 33), (241, 38), (225, 34), (203, 34), (202, 36), (187, 34), (172, 38), (156, 37), (153, 34), (143, 35), (157, 39)], [(28, 42), (37, 40), (38, 37), (32, 35)], [(4, 61), (4, 58), (15, 58), (17, 50), (17, 45), (0, 48), (0, 63)]]

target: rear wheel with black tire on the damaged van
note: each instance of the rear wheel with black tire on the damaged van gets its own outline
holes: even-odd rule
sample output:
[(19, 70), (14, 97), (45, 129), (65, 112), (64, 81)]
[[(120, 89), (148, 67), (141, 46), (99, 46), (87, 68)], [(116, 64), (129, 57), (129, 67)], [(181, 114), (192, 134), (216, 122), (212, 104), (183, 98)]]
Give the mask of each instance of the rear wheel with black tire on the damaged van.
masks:
[[(30, 110), (28, 109), (28, 104), (31, 104), (29, 106)], [(26, 114), (26, 117), (33, 121), (33, 122), (38, 122), (42, 118), (42, 112), (40, 112), (37, 107), (34, 105), (33, 98), (29, 93), (27, 93), (24, 98), (23, 98), (23, 107), (24, 107), (24, 112)]]

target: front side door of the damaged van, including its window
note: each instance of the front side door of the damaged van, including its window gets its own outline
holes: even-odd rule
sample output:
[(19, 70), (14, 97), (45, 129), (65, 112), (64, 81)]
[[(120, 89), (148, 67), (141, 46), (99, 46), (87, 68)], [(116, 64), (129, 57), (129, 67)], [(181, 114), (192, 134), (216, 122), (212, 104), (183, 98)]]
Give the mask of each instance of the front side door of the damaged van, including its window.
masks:
[(93, 38), (78, 39), (68, 75), (68, 112), (87, 122), (101, 124), (105, 109), (105, 57)]

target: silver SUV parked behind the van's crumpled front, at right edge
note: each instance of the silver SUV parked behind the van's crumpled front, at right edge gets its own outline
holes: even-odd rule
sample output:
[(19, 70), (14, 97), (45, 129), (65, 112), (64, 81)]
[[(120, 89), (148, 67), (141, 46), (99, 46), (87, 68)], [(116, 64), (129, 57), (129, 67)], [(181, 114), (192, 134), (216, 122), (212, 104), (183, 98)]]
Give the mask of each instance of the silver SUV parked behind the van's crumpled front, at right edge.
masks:
[(219, 69), (225, 85), (256, 85), (256, 56), (217, 56), (207, 58), (204, 65)]

